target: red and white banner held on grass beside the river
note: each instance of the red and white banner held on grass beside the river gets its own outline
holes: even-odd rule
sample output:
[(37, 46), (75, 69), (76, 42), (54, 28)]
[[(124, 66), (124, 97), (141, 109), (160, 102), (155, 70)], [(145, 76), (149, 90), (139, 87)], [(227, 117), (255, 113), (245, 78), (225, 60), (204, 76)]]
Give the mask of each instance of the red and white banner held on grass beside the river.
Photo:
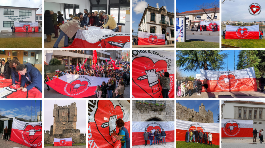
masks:
[(226, 25), (225, 39), (259, 39), (259, 25), (254, 25), (254, 26)]

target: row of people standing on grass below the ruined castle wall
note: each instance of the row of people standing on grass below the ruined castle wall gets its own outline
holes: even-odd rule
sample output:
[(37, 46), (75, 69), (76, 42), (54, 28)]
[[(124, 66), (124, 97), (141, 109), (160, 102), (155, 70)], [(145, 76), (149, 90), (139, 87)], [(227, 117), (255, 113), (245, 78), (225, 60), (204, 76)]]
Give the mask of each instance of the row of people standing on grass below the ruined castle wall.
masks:
[[(212, 146), (212, 134), (210, 132), (208, 132), (208, 134), (206, 132), (202, 132), (201, 130), (198, 131), (196, 129), (194, 130), (187, 130), (186, 134), (185, 134), (185, 140), (186, 142), (190, 142), (190, 143), (200, 143), (202, 144), (202, 139), (204, 140), (204, 145), (207, 145), (207, 143), (211, 143)], [(208, 141), (208, 142), (207, 142)]]

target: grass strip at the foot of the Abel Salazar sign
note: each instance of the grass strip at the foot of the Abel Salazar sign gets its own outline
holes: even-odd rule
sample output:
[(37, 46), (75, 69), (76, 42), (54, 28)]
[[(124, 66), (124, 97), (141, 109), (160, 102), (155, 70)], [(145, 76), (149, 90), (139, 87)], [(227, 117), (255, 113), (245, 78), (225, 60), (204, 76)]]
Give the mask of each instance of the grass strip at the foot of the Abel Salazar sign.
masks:
[(220, 43), (204, 42), (204, 41), (190, 41), (176, 42), (177, 48), (219, 48)]

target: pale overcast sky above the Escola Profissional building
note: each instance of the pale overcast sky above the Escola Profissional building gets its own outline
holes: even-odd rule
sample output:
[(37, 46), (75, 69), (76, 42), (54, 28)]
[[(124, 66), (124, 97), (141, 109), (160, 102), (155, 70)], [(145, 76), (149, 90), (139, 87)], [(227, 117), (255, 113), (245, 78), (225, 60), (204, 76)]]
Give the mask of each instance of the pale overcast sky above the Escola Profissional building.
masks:
[[(14, 7), (28, 7), (28, 8), (40, 8), (42, 0), (1, 0), (1, 6), (14, 6)], [(36, 14), (42, 14), (40, 9)]]

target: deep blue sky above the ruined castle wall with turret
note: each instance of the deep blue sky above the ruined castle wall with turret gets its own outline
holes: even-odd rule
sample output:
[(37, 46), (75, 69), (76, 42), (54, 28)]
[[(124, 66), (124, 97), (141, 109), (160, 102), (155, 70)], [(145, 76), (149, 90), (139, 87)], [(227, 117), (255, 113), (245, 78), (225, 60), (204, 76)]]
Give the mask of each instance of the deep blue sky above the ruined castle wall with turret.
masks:
[[(219, 100), (176, 100), (176, 103), (178, 103), (189, 108), (192, 109), (192, 107), (194, 108), (194, 111), (199, 112), (199, 106), (201, 106), (201, 104), (203, 103), (203, 105), (205, 106), (205, 110), (208, 112), (208, 109), (210, 109), (210, 111), (212, 111), (213, 113), (213, 117), (214, 117), (214, 123), (218, 123), (217, 122), (217, 114), (219, 113), (219, 109), (218, 105), (219, 105)], [(192, 102), (192, 103), (191, 103)], [(217, 110), (218, 109), (218, 110)]]

